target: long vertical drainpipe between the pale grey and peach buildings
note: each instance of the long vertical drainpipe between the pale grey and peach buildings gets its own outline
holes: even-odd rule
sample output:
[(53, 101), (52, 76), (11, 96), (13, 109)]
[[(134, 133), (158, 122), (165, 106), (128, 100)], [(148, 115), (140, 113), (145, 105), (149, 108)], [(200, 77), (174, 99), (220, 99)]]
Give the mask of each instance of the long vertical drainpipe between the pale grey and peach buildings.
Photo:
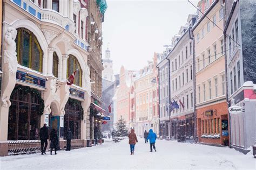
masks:
[(195, 42), (194, 42), (194, 36), (193, 36), (193, 31), (192, 27), (189, 28), (188, 33), (190, 34), (190, 39), (193, 42), (193, 86), (194, 86), (194, 141), (198, 142), (198, 137), (197, 137), (197, 110), (196, 110), (196, 104), (197, 104), (197, 87), (196, 87), (196, 52), (195, 52)]

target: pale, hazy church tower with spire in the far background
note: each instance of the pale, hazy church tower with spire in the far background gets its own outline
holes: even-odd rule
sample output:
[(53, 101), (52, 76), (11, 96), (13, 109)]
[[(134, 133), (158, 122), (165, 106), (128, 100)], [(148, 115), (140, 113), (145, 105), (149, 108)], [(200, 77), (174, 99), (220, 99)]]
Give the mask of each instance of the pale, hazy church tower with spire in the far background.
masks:
[(103, 67), (102, 71), (102, 79), (114, 81), (114, 73), (113, 73), (113, 61), (110, 59), (110, 50), (107, 47), (105, 51), (105, 59), (103, 59)]

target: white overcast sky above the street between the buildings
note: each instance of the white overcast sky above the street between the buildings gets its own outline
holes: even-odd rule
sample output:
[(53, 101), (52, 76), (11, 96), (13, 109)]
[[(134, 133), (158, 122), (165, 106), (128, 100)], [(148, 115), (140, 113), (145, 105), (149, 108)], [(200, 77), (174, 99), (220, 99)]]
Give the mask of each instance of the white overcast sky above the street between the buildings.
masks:
[[(191, 1), (197, 5), (198, 1)], [(188, 14), (197, 10), (187, 0), (107, 0), (103, 25), (103, 59), (109, 43), (114, 73), (138, 70), (170, 45)]]

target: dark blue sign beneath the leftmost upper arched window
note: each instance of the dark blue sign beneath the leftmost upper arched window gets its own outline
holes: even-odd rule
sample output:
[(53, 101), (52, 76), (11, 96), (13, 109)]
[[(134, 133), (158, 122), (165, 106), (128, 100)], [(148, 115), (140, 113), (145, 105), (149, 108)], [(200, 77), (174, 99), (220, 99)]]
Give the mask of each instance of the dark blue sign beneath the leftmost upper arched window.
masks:
[(34, 75), (28, 75), (27, 73), (21, 72), (19, 70), (17, 70), (16, 73), (16, 80), (45, 88), (45, 79)]

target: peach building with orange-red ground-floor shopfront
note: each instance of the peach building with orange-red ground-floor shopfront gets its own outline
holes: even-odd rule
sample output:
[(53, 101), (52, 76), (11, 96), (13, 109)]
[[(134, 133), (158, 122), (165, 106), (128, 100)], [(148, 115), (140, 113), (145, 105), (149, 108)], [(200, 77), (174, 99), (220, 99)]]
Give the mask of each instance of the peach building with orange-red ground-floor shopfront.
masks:
[[(193, 27), (199, 143), (228, 145), (223, 1), (200, 1)], [(211, 18), (211, 21), (208, 19)]]

